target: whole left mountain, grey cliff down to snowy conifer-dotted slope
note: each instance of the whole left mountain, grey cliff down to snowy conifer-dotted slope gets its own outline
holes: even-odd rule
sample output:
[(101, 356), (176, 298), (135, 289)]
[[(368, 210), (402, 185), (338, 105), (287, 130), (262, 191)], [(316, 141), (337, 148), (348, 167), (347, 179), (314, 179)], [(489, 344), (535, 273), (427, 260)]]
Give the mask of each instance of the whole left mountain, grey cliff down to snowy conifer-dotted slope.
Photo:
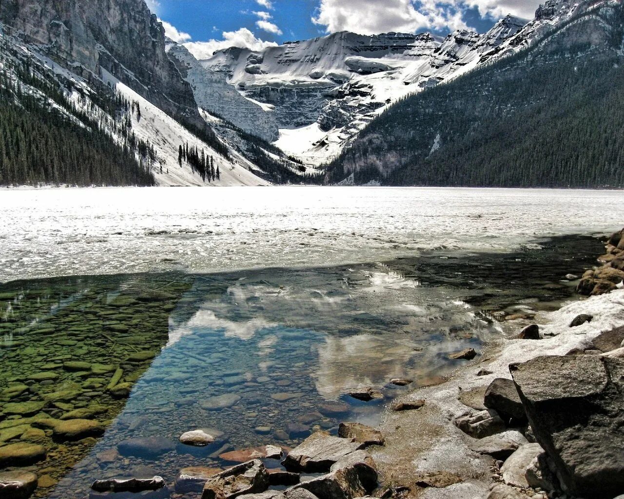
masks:
[[(265, 185), (301, 182), (315, 173), (211, 115), (218, 107), (198, 107), (144, 0), (7, 0), (0, 3), (0, 22), (0, 68), (6, 73), (0, 90), (12, 109), (6, 112), (22, 108), (29, 122), (56, 124), (68, 144), (88, 142), (90, 134), (105, 144), (109, 158), (83, 168), (75, 152), (70, 160), (54, 160), (54, 168), (39, 168), (21, 157), (31, 150), (30, 157), (50, 160), (39, 154), (36, 140), (7, 130), (14, 147), (5, 147), (0, 161), (12, 173), (0, 172), (0, 183)], [(250, 124), (268, 116), (266, 138), (275, 138), (277, 128), (261, 105), (220, 79), (205, 93), (232, 103)]]

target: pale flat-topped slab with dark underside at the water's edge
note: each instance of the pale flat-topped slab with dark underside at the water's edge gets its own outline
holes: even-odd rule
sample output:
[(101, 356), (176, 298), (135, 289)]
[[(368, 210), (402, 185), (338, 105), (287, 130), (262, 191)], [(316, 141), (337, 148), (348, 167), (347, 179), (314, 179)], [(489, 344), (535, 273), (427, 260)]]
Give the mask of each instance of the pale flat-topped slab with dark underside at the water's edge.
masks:
[(293, 448), (282, 464), (289, 471), (326, 472), (341, 458), (363, 447), (360, 442), (317, 432)]

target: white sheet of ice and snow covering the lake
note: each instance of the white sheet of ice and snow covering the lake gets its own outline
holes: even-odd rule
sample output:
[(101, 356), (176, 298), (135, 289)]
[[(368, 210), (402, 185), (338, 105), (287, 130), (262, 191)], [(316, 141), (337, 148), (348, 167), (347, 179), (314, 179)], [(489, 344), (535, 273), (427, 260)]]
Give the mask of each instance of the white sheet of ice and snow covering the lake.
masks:
[(0, 190), (0, 281), (208, 273), (507, 251), (605, 233), (622, 191), (229, 187)]

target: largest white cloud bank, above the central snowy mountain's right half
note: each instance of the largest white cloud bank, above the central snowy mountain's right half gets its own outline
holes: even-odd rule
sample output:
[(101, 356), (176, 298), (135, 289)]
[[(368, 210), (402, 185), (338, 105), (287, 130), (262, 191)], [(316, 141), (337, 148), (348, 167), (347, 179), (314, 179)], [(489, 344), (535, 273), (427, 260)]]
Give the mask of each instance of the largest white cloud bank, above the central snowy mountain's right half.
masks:
[(360, 34), (466, 29), (468, 8), (477, 8), (484, 17), (532, 18), (539, 4), (540, 0), (320, 0), (312, 22), (327, 32)]

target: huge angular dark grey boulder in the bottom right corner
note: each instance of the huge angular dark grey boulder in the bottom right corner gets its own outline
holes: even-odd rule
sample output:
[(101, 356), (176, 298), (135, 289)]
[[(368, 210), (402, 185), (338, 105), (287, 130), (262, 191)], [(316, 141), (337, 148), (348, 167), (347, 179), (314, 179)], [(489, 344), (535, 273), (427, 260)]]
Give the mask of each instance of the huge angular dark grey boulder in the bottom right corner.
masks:
[(562, 486), (586, 498), (622, 492), (624, 359), (537, 357), (510, 371)]

